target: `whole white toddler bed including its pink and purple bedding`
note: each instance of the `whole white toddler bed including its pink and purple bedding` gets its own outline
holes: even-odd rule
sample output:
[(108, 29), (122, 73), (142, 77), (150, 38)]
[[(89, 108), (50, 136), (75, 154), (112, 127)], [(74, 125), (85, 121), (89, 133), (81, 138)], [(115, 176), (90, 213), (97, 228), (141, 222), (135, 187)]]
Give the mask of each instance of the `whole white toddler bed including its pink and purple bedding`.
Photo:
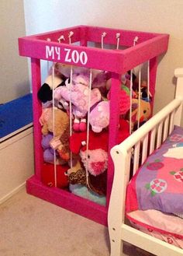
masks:
[[(176, 208), (177, 206), (174, 206), (173, 212), (170, 210), (171, 201), (168, 200), (171, 197), (167, 197), (169, 195), (167, 192), (167, 195), (161, 192), (165, 187), (170, 191), (171, 186), (169, 184), (167, 186), (166, 179), (162, 178), (162, 175), (166, 173), (166, 171), (162, 171), (164, 170), (164, 163), (161, 163), (159, 159), (156, 160), (158, 153), (165, 149), (169, 150), (167, 145), (169, 146), (171, 142), (173, 142), (171, 143), (171, 150), (176, 146), (181, 146), (181, 149), (183, 149), (183, 140), (176, 137), (178, 133), (176, 131), (183, 132), (177, 126), (181, 124), (183, 68), (176, 69), (174, 75), (178, 79), (174, 100), (150, 118), (146, 124), (143, 124), (124, 142), (114, 146), (111, 150), (115, 166), (108, 213), (111, 256), (119, 256), (123, 253), (123, 241), (155, 255), (183, 255), (183, 217), (179, 215), (181, 212), (183, 213), (183, 207), (180, 210)], [(171, 150), (169, 153), (171, 153)], [(170, 156), (167, 159), (165, 157), (167, 156), (166, 153), (162, 155), (164, 161), (167, 161), (167, 165), (173, 168), (168, 171), (167, 179), (171, 179), (172, 182), (179, 181), (176, 183), (179, 187), (176, 187), (175, 184), (174, 190), (183, 189), (183, 177), (181, 177), (183, 168), (180, 169), (178, 166), (178, 161), (183, 161), (183, 154), (181, 155), (181, 159), (180, 153), (179, 159), (174, 158), (175, 156)], [(157, 161), (155, 165), (151, 163), (150, 166), (150, 157), (154, 158), (154, 162)], [(149, 172), (146, 169), (147, 166), (149, 166)], [(177, 167), (179, 171), (176, 170)], [(158, 168), (161, 170), (161, 174), (157, 173)], [(141, 183), (140, 187), (137, 186), (137, 181), (139, 182), (143, 178), (146, 179), (150, 175), (155, 175), (153, 181), (157, 182), (158, 185), (161, 182), (162, 186), (156, 187), (152, 182), (146, 183), (146, 181), (144, 181), (145, 185)], [(172, 178), (170, 178), (171, 175)], [(135, 188), (135, 190), (132, 188)], [(154, 188), (161, 191), (154, 191)], [(140, 194), (140, 190), (143, 190), (143, 194)], [(172, 200), (174, 202), (180, 202), (178, 197), (183, 200), (183, 192), (178, 195), (176, 195), (176, 191), (173, 192)], [(143, 198), (143, 195), (147, 195), (147, 198)], [(163, 196), (160, 198), (160, 195)], [(167, 201), (164, 205), (165, 197)], [(136, 205), (140, 205), (138, 205), (138, 200), (141, 200), (141, 208), (136, 209)], [(156, 201), (159, 204), (158, 206), (154, 203)], [(150, 205), (150, 202), (153, 206)], [(161, 211), (158, 207), (164, 210)], [(176, 215), (176, 212), (179, 216)], [(126, 224), (126, 217), (132, 225)], [(175, 229), (176, 226), (177, 229)]]

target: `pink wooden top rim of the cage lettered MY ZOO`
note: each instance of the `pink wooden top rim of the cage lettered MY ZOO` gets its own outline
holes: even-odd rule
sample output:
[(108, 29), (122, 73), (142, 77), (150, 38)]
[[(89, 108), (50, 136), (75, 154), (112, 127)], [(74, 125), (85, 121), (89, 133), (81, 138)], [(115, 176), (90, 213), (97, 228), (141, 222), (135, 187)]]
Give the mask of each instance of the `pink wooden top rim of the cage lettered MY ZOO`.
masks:
[[(121, 33), (122, 40), (119, 45), (128, 47), (125, 50), (101, 50), (95, 47), (82, 47), (78, 45), (68, 45), (58, 43), (57, 39), (63, 33), (65, 38), (68, 38), (67, 33), (73, 31), (72, 42), (83, 40), (80, 36), (84, 35), (88, 41), (98, 43), (101, 41), (101, 34), (103, 31), (107, 31), (105, 37), (106, 44), (116, 44), (116, 33)], [(139, 37), (140, 43), (133, 47), (134, 37)], [(50, 42), (47, 41), (50, 38)], [(126, 40), (124, 39), (126, 38)], [(54, 33), (44, 33), (43, 35), (36, 35), (35, 37), (22, 37), (19, 38), (19, 54), (21, 56), (27, 56), (31, 58), (39, 58), (49, 61), (57, 61), (66, 64), (76, 65), (74, 61), (66, 61), (67, 51), (78, 51), (80, 54), (82, 51), (88, 56), (88, 62), (83, 65), (78, 62), (78, 65), (88, 68), (102, 69), (110, 72), (116, 72), (124, 74), (129, 69), (136, 67), (140, 63), (154, 58), (164, 51), (167, 51), (167, 34), (155, 34), (155, 33), (142, 33), (129, 30), (109, 30), (106, 28), (96, 27), (74, 27), (69, 30), (59, 30)], [(53, 47), (60, 51), (59, 56), (57, 54), (46, 54), (47, 47)], [(54, 51), (54, 50), (53, 50)], [(102, 60), (102, 61), (98, 61)]]

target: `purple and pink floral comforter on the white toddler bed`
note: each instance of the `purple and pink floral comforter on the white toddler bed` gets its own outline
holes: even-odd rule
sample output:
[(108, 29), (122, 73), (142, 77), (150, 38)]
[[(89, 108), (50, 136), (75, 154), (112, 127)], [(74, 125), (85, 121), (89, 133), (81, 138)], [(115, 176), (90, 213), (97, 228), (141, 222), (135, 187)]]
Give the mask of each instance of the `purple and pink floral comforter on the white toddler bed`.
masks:
[(126, 212), (155, 209), (183, 214), (183, 129), (175, 126), (129, 182)]

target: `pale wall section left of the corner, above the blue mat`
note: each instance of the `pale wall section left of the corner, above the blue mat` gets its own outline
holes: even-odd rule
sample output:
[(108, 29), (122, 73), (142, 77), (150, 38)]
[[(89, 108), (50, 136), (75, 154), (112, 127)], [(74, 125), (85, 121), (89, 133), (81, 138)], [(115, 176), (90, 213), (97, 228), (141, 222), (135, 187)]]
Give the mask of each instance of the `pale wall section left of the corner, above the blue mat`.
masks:
[(27, 61), (18, 51), (18, 37), (26, 33), (22, 0), (1, 0), (0, 17), (0, 103), (5, 103), (29, 93)]

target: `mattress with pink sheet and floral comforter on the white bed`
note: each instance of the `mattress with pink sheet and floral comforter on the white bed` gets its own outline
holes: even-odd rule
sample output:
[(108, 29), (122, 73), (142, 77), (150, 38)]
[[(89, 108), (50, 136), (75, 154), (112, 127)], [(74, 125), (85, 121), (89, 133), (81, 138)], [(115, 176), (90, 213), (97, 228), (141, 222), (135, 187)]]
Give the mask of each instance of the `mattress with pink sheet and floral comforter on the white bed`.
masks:
[(151, 236), (183, 248), (183, 129), (175, 126), (127, 186), (126, 217)]

